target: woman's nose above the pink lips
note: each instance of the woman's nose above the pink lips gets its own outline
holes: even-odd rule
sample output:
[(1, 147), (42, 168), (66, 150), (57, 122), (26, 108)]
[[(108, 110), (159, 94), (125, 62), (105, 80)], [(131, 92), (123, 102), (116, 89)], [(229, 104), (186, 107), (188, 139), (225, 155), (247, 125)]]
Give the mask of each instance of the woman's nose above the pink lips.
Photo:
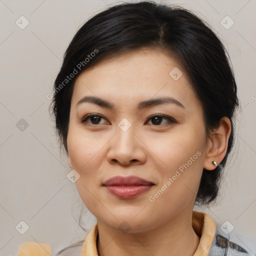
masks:
[(107, 160), (111, 164), (137, 165), (145, 162), (145, 145), (134, 134), (132, 126), (123, 131), (117, 127), (116, 135), (109, 141)]

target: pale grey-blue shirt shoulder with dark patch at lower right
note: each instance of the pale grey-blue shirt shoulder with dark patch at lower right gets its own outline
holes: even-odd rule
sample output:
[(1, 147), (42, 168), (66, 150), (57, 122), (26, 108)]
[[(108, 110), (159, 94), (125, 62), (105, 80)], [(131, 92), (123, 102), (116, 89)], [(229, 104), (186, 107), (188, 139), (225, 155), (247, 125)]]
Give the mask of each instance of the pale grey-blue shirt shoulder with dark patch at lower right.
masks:
[(216, 224), (216, 233), (213, 238), (208, 256), (255, 256), (256, 244), (239, 232), (224, 233)]

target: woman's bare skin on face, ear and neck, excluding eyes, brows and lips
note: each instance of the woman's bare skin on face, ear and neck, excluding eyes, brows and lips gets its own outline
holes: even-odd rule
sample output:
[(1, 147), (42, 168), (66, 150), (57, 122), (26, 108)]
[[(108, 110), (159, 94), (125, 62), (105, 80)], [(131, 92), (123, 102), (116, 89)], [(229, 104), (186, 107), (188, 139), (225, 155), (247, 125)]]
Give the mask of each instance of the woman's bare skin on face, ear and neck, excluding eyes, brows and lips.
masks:
[[(169, 75), (174, 67), (183, 72), (178, 80)], [(85, 95), (103, 98), (114, 108), (91, 102), (75, 107)], [(184, 107), (164, 103), (137, 109), (138, 102), (160, 96), (173, 97)], [(81, 123), (89, 113), (103, 118), (96, 124), (91, 118)], [(162, 118), (155, 124), (149, 118), (153, 114), (176, 122)], [(118, 126), (123, 118), (131, 124), (126, 131)], [(202, 170), (214, 171), (211, 161), (223, 159), (229, 134), (230, 121), (225, 117), (206, 139), (201, 103), (185, 70), (163, 50), (133, 50), (83, 71), (71, 99), (67, 154), (80, 175), (75, 184), (81, 200), (97, 219), (98, 254), (193, 255), (199, 237), (191, 217)], [(194, 159), (196, 152), (200, 155)], [(189, 167), (150, 201), (190, 157), (194, 161)], [(102, 186), (116, 175), (139, 176), (155, 185), (135, 198), (120, 199)], [(130, 227), (127, 233), (118, 228), (123, 221)]]

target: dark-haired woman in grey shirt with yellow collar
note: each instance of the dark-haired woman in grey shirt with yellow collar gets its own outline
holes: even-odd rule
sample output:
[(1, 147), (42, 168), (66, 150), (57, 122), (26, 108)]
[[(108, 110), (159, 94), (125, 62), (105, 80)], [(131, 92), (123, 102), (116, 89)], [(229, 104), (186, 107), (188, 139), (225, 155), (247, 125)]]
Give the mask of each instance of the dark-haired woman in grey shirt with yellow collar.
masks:
[[(238, 106), (225, 49), (198, 17), (149, 1), (96, 14), (52, 96), (72, 179), (97, 219), (57, 255), (252, 255), (193, 210), (217, 197)], [(26, 247), (50, 253), (24, 243), (18, 255)]]

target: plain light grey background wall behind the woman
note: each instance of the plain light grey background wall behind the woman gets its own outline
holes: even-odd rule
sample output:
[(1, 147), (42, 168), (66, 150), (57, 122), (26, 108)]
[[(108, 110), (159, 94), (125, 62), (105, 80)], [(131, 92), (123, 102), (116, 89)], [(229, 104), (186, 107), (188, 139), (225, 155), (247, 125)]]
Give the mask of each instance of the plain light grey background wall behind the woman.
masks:
[[(46, 95), (78, 27), (117, 2), (0, 0), (0, 255), (15, 255), (25, 241), (53, 246), (86, 237), (72, 217), (71, 207), (75, 216), (82, 204), (75, 185), (66, 178), (69, 168), (59, 153)], [(235, 145), (216, 205), (196, 210), (220, 224), (228, 220), (234, 230), (256, 240), (256, 1), (161, 2), (193, 10), (229, 52), (241, 103)], [(20, 16), (29, 22), (23, 29), (26, 21)], [(231, 20), (234, 24), (226, 29), (223, 18), (226, 26)], [(24, 234), (16, 229), (21, 220), (29, 226)], [(95, 218), (84, 212), (83, 220), (89, 231)]]

